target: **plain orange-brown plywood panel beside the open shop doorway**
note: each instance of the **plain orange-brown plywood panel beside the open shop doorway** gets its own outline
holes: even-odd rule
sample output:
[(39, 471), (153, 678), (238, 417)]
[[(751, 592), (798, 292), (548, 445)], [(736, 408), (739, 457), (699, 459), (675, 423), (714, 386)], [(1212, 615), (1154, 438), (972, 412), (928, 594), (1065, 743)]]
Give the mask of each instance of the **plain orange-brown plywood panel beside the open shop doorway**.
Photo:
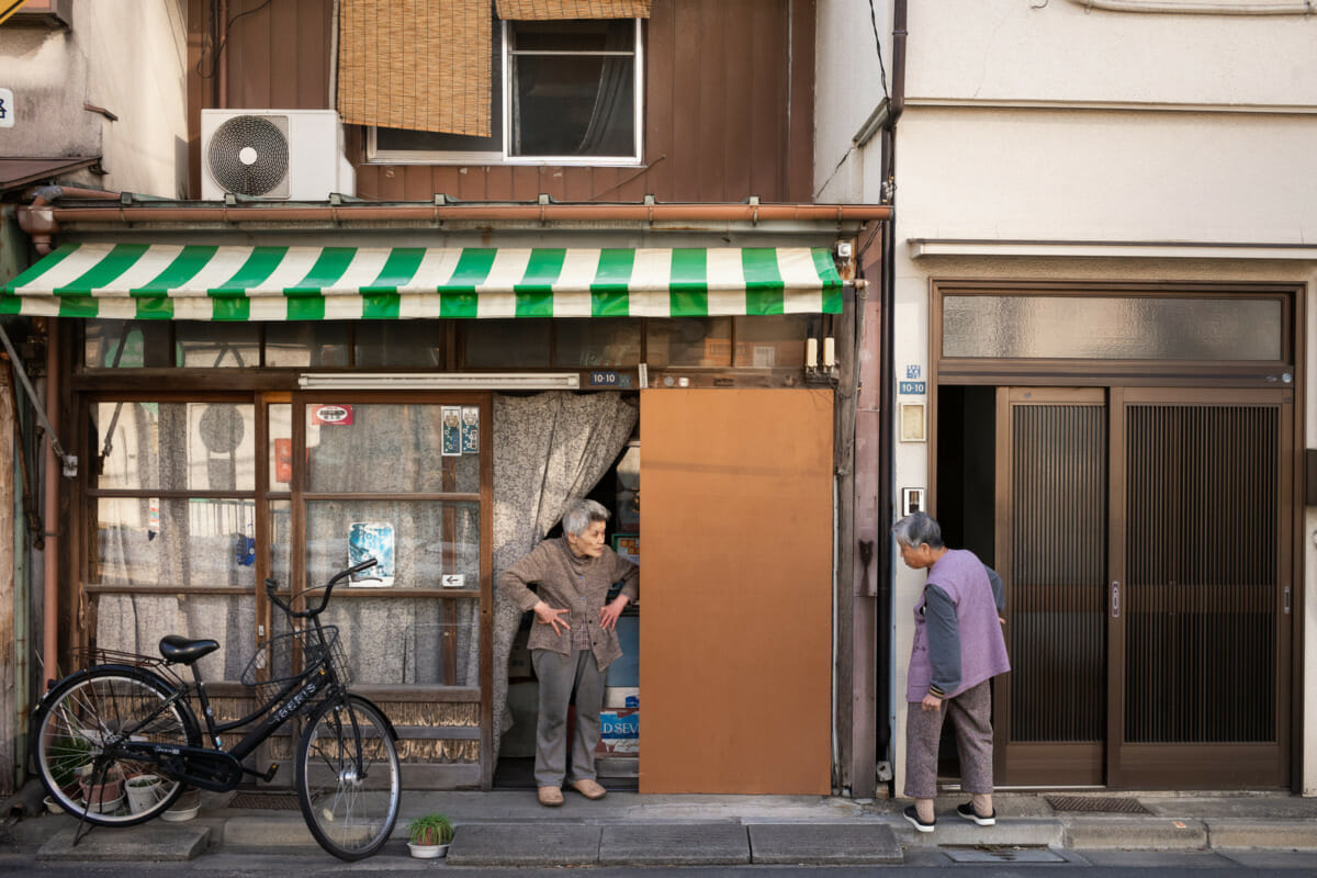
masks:
[(643, 792), (831, 791), (832, 392), (647, 390)]

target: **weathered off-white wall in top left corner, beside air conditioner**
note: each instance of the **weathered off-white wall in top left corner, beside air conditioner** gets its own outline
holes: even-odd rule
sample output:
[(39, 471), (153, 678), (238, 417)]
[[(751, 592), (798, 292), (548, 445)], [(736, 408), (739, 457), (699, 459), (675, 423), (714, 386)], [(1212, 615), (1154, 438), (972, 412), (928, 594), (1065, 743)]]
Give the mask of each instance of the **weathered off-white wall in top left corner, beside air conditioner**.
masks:
[(79, 183), (186, 195), (186, 3), (78, 0), (71, 18), (67, 32), (0, 28), (0, 86), (17, 105), (0, 155), (101, 155), (108, 174), (83, 172)]

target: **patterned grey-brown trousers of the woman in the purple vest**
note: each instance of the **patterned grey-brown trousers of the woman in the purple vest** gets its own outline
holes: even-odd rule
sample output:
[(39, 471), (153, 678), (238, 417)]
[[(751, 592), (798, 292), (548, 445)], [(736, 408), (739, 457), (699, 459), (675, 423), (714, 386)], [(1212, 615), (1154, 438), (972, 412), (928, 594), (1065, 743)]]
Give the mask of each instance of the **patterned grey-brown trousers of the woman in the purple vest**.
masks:
[(938, 795), (938, 745), (942, 724), (951, 721), (960, 753), (960, 788), (969, 794), (992, 792), (992, 694), (988, 681), (926, 711), (918, 702), (906, 706), (906, 796), (934, 799)]

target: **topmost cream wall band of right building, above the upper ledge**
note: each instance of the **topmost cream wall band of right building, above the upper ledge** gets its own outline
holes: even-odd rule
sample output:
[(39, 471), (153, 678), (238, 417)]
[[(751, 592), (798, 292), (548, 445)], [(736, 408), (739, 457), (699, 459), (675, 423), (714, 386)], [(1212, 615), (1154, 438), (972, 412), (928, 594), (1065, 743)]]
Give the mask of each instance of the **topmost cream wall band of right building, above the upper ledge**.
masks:
[(909, 32), (909, 101), (1317, 104), (1317, 16), (911, 0)]

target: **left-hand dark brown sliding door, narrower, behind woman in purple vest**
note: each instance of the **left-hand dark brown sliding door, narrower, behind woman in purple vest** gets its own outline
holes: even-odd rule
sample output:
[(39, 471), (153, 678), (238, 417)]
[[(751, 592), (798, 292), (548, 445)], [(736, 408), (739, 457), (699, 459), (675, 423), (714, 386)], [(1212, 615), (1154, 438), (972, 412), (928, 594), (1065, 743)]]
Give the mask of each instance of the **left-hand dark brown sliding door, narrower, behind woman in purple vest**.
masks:
[(997, 391), (998, 783), (1102, 783), (1106, 430), (1102, 388)]

